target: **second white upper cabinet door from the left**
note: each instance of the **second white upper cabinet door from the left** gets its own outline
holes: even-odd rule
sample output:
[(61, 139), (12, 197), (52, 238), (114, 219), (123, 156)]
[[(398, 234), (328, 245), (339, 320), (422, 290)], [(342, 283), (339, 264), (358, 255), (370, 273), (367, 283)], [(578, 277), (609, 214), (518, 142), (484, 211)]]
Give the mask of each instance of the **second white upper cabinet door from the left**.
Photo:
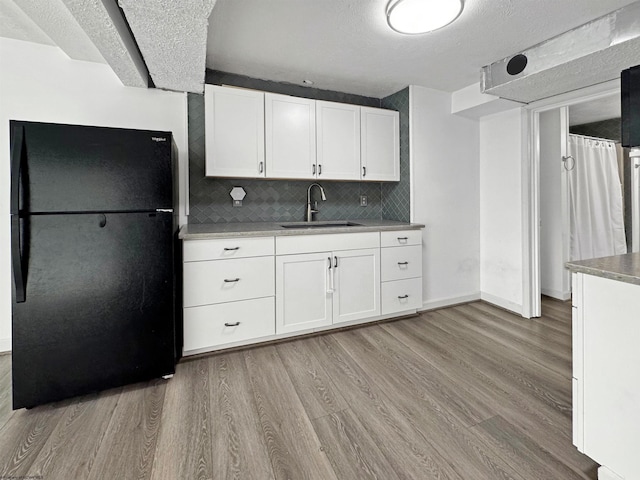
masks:
[(265, 93), (267, 177), (316, 177), (316, 102)]

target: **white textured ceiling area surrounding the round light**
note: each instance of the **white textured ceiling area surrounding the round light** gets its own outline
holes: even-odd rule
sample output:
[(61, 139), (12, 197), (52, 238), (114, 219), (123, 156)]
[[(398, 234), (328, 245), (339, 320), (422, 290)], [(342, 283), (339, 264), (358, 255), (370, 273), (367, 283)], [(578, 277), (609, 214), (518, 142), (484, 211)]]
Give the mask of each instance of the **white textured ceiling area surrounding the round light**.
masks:
[(478, 82), (485, 65), (633, 2), (467, 0), (453, 24), (413, 36), (388, 27), (387, 3), (218, 0), (207, 67), (375, 97), (409, 84), (451, 92)]

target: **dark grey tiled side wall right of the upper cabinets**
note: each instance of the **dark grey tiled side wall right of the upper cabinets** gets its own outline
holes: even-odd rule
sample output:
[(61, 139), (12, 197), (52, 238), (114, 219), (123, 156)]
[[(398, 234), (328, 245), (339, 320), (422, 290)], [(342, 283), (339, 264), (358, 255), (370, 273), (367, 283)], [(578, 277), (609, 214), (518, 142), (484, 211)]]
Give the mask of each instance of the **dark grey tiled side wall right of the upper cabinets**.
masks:
[(408, 222), (411, 215), (409, 166), (409, 87), (382, 99), (382, 107), (400, 112), (400, 181), (382, 184), (382, 218)]

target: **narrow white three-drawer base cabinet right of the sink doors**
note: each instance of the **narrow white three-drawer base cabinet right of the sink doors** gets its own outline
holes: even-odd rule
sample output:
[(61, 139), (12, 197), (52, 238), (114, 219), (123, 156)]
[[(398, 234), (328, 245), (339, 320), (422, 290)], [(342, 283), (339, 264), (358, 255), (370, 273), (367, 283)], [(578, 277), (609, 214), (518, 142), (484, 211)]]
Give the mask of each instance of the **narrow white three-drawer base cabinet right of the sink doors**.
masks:
[(381, 232), (382, 315), (422, 307), (422, 232)]

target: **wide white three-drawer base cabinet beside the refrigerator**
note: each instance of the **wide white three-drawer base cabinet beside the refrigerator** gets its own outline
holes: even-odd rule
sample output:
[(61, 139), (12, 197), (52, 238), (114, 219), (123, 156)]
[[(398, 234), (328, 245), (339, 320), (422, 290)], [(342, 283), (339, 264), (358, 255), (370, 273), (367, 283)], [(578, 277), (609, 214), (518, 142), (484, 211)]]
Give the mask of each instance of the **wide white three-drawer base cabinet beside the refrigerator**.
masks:
[(273, 237), (183, 244), (183, 355), (275, 334)]

